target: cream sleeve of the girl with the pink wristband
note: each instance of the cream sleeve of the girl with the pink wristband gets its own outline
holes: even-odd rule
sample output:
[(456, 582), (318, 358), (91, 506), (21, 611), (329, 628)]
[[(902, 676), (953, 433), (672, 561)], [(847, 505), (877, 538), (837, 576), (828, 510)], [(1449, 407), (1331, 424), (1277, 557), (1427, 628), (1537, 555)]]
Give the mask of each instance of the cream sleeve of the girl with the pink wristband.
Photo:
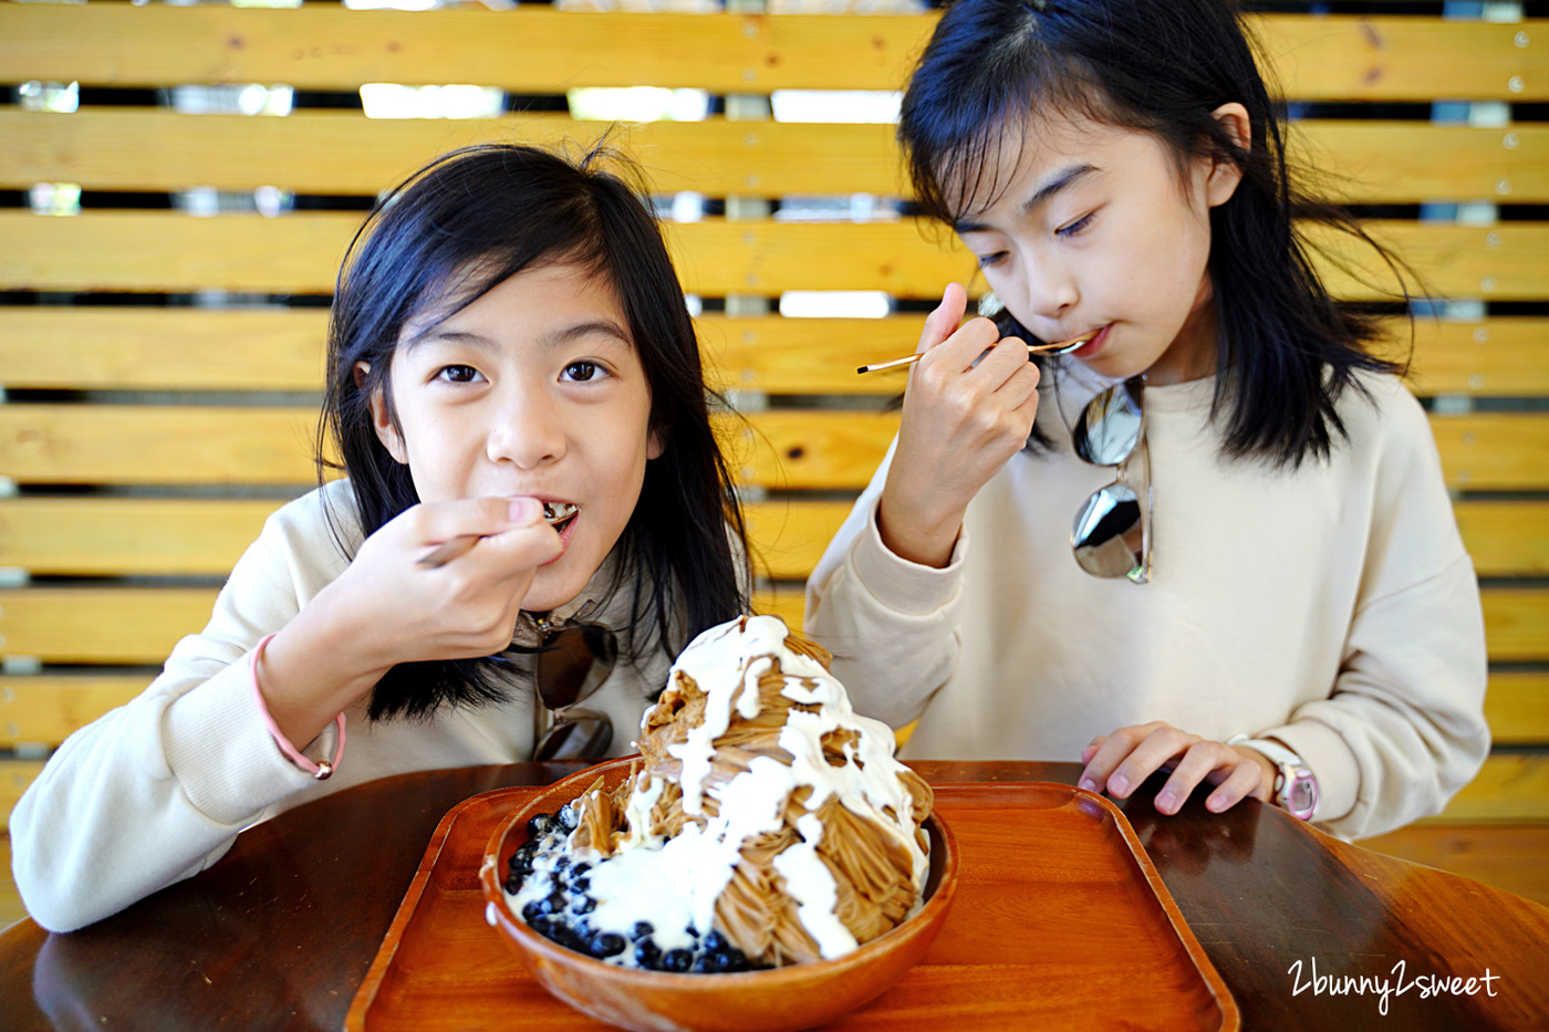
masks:
[(237, 562), (204, 631), (139, 697), (65, 739), (17, 803), (12, 871), (45, 928), (81, 928), (203, 871), (266, 807), (316, 784), (270, 738), (248, 679), (251, 648), (316, 580), (282, 514)]

